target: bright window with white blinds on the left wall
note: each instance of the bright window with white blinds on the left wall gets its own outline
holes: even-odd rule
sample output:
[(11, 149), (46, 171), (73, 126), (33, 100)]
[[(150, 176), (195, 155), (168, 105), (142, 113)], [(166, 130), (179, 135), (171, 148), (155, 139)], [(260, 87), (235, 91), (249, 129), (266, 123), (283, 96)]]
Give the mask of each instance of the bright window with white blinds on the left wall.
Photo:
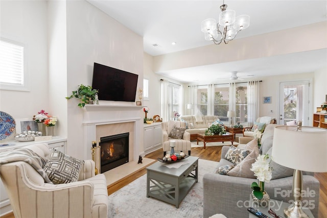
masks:
[(0, 39), (0, 88), (26, 90), (24, 45)]

